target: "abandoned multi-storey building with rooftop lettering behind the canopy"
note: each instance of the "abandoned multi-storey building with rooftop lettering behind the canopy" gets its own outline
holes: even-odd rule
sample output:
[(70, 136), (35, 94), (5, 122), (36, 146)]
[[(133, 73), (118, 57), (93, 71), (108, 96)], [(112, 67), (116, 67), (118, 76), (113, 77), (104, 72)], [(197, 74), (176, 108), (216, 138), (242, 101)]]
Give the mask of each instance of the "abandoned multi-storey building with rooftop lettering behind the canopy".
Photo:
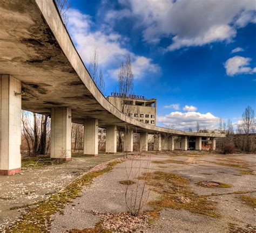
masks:
[(127, 116), (146, 124), (156, 125), (157, 100), (155, 98), (146, 100), (144, 96), (122, 97), (118, 93), (111, 93), (111, 96), (107, 96), (107, 100)]

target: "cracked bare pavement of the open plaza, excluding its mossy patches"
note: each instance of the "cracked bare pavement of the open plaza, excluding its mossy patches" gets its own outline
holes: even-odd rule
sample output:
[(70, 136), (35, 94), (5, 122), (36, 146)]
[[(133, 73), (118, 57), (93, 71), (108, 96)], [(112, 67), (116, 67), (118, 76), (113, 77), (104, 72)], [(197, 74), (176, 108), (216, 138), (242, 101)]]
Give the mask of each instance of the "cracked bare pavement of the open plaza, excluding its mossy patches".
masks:
[[(172, 159), (173, 162), (164, 164), (151, 163), (150, 172), (163, 171), (176, 173), (189, 180), (194, 193), (198, 195), (210, 195), (207, 200), (217, 201), (219, 218), (191, 213), (184, 209), (165, 209), (151, 228), (138, 229), (137, 232), (229, 232), (229, 224), (235, 223), (238, 227), (246, 228), (247, 224), (255, 225), (256, 211), (240, 199), (241, 195), (256, 197), (255, 175), (240, 174), (241, 168), (225, 166), (225, 164), (246, 164), (255, 171), (256, 161), (253, 154), (238, 154), (235, 156), (223, 156), (220, 154), (208, 154), (202, 152), (173, 152), (151, 153), (151, 161), (164, 162)], [(233, 161), (228, 161), (231, 159)], [(134, 170), (137, 170), (142, 161), (145, 168), (147, 158), (135, 159)], [(177, 163), (183, 162), (183, 164)], [(134, 163), (134, 161), (133, 161)], [(218, 165), (215, 163), (222, 163)], [(83, 190), (83, 196), (68, 204), (62, 213), (52, 216), (51, 232), (64, 232), (73, 228), (84, 229), (93, 227), (100, 221), (101, 215), (94, 215), (91, 211), (100, 213), (118, 213), (126, 211), (125, 185), (118, 181), (127, 179), (126, 170), (129, 171), (131, 160), (125, 161), (114, 167), (110, 173), (98, 176), (91, 187)], [(135, 172), (136, 173), (136, 172)], [(134, 173), (134, 174), (135, 174)], [(139, 176), (139, 174), (137, 174)], [(212, 180), (230, 183), (231, 188), (205, 188), (196, 185), (198, 181)], [(136, 181), (136, 180), (135, 180)], [(150, 188), (150, 187), (147, 187)], [(234, 192), (253, 192), (248, 194), (235, 194)], [(223, 194), (214, 196), (212, 193)], [(231, 194), (228, 194), (231, 193)], [(158, 195), (151, 193), (151, 199), (157, 199)], [(147, 207), (148, 208), (148, 207)], [(250, 230), (247, 228), (247, 230)], [(253, 231), (244, 231), (253, 232)]]

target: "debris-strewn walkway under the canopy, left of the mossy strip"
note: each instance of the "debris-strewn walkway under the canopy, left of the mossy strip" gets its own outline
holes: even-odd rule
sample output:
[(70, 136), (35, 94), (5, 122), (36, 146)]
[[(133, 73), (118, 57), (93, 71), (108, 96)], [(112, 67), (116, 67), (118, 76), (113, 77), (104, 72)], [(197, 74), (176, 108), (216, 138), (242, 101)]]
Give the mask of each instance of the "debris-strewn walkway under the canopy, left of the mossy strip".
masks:
[(57, 193), (90, 168), (120, 156), (122, 154), (100, 154), (98, 157), (72, 156), (69, 163), (38, 169), (31, 166), (32, 168), (17, 175), (0, 176), (0, 232), (25, 211), (25, 207), (14, 210), (10, 208), (44, 200), (49, 197), (48, 194)]

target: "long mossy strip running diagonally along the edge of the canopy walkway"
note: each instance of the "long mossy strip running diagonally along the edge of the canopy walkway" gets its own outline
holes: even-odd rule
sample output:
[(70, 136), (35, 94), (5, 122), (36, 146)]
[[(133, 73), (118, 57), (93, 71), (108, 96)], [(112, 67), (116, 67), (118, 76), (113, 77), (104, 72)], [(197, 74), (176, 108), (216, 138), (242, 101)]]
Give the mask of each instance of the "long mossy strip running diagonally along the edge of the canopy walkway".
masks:
[(53, 194), (49, 199), (38, 203), (37, 207), (28, 209), (28, 211), (23, 214), (21, 220), (12, 224), (6, 232), (48, 232), (48, 227), (50, 227), (51, 224), (51, 215), (63, 209), (66, 203), (71, 202), (72, 199), (80, 196), (80, 191), (83, 187), (91, 185), (94, 178), (105, 172), (112, 171), (113, 166), (119, 163), (121, 163), (121, 161), (112, 161), (102, 170), (92, 171), (80, 176), (66, 186), (61, 192)]

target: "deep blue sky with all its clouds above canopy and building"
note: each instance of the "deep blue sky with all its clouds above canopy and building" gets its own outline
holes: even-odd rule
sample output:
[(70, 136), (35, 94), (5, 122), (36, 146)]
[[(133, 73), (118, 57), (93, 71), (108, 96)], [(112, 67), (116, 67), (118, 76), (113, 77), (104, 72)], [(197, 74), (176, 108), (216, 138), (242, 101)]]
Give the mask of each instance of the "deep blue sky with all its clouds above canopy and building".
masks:
[(256, 110), (255, 0), (71, 0), (67, 16), (86, 67), (98, 52), (105, 96), (130, 55), (133, 94), (157, 99), (159, 126), (235, 128)]

